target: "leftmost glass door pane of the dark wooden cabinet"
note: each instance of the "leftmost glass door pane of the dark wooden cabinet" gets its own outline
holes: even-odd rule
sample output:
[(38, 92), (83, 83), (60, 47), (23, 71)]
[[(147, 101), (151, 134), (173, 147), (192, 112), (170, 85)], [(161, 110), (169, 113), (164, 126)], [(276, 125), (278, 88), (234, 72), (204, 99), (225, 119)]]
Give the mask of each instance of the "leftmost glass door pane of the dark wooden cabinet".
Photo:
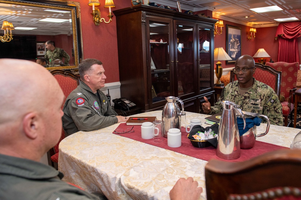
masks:
[[(154, 19), (154, 20), (151, 20)], [(165, 97), (169, 97), (173, 87), (171, 67), (171, 20), (157, 20), (148, 18), (147, 34), (149, 34), (148, 63), (151, 66), (149, 73), (150, 107), (164, 105)], [(147, 37), (148, 38), (148, 37)]]

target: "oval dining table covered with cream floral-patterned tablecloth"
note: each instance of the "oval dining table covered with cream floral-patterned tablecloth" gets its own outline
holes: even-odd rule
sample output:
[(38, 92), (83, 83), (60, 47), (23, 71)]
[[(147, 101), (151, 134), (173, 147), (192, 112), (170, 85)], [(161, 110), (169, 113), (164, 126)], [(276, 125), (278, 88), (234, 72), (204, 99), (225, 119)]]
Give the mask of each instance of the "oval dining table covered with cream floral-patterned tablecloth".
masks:
[[(162, 120), (162, 110), (132, 116), (156, 116), (157, 120)], [(203, 127), (211, 126), (205, 123), (208, 116), (186, 112), (186, 124), (192, 118), (199, 118)], [(166, 145), (165, 148), (153, 144), (152, 139), (143, 142), (126, 137), (138, 134), (139, 125), (135, 125), (136, 132), (113, 134), (120, 126), (126, 124), (117, 123), (99, 130), (79, 131), (63, 139), (59, 145), (58, 159), (58, 170), (64, 174), (63, 181), (76, 184), (91, 193), (104, 194), (107, 199), (169, 199), (169, 191), (179, 178), (193, 177), (203, 187), (199, 199), (206, 199), (204, 171), (211, 158), (198, 158), (206, 154), (206, 148), (196, 148), (187, 143), (185, 150), (179, 153), (178, 148), (168, 149), (166, 140), (161, 144)], [(257, 133), (265, 132), (266, 126), (260, 124)], [(299, 131), (296, 128), (270, 125), (267, 135), (256, 138), (256, 143), (260, 141), (279, 148), (290, 148)], [(182, 134), (185, 135), (182, 137), (183, 144), (185, 139), (188, 140), (188, 133)], [(192, 156), (185, 153), (192, 150)], [(212, 159), (215, 157), (212, 156)]]

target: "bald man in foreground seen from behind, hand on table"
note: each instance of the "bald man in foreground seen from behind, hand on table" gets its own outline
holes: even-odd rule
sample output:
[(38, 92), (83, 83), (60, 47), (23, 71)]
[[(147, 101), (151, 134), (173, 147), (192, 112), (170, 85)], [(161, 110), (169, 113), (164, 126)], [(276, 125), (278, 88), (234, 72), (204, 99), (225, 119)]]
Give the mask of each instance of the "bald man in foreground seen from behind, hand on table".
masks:
[[(64, 94), (56, 79), (32, 61), (0, 59), (0, 69), (0, 199), (100, 199), (39, 162), (61, 137)], [(197, 186), (193, 178), (181, 178), (170, 197), (198, 199)]]

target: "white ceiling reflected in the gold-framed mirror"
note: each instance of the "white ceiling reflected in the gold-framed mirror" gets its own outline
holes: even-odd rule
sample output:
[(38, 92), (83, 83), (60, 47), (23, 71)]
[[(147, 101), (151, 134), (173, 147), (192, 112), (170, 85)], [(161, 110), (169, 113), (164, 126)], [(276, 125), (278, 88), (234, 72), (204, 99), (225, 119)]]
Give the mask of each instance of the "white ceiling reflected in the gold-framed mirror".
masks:
[[(71, 12), (57, 13), (45, 11), (54, 10), (49, 8), (32, 7), (24, 5), (14, 5), (0, 3), (0, 23), (4, 20), (12, 22), (14, 27), (32, 27), (37, 28), (31, 31), (13, 30), (13, 34), (34, 34), (34, 35), (58, 35), (72, 34), (72, 24), (67, 21), (63, 23), (40, 22), (38, 20), (45, 18), (71, 19)], [(1, 35), (2, 35), (1, 30)]]

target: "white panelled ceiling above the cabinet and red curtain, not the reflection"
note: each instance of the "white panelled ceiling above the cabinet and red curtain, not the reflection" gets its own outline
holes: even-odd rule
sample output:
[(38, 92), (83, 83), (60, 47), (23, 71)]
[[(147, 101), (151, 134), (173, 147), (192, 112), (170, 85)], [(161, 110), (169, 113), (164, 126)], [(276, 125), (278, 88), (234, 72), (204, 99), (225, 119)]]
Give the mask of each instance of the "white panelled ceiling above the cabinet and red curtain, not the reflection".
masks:
[[(274, 19), (296, 17), (301, 19), (300, 0), (150, 0), (157, 4), (177, 7), (179, 1), (182, 10), (212, 10), (213, 17), (224, 19), (252, 27), (277, 26)], [(277, 5), (282, 11), (269, 13), (255, 13), (250, 8), (267, 7)], [(249, 16), (246, 18), (246, 16)]]

